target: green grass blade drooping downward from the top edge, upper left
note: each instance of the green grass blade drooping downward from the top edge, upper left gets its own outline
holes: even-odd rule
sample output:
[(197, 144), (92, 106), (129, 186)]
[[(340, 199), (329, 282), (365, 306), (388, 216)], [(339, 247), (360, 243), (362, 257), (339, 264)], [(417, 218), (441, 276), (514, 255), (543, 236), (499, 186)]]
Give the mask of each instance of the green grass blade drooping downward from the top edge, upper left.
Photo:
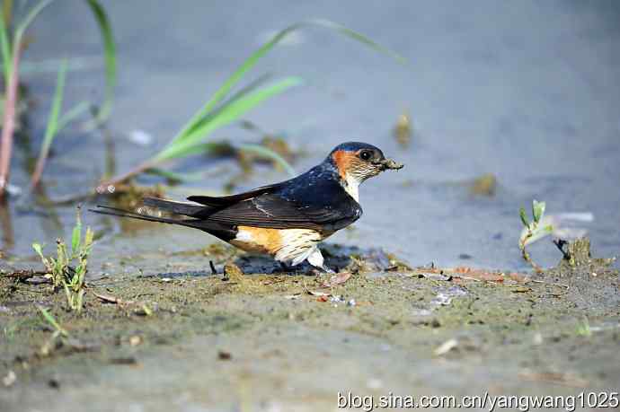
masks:
[(112, 104), (114, 103), (114, 89), (116, 87), (116, 43), (114, 42), (110, 19), (108, 19), (108, 14), (105, 13), (102, 4), (97, 0), (87, 0), (86, 3), (90, 6), (94, 19), (99, 26), (99, 31), (102, 34), (103, 58), (105, 60), (105, 94), (103, 103), (97, 113), (97, 118), (92, 125), (89, 125), (89, 127), (96, 127), (110, 117)]

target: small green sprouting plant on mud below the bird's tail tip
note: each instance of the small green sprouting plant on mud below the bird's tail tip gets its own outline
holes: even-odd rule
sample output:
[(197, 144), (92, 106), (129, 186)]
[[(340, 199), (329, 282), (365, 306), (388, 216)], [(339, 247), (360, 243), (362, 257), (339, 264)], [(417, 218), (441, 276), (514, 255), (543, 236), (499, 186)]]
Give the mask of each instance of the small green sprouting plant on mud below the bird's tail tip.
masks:
[[(40, 243), (32, 243), (34, 249), (40, 256), (43, 265), (48, 271), (55, 289), (63, 287), (66, 294), (66, 302), (72, 311), (82, 311), (84, 301), (84, 277), (88, 271), (88, 255), (93, 246), (93, 231), (90, 227), (86, 228), (84, 240), (82, 239), (82, 219), (80, 209), (77, 208), (76, 224), (71, 236), (71, 252), (66, 248), (65, 241), (58, 239), (57, 257), (46, 258), (43, 255), (43, 247)], [(77, 266), (72, 266), (74, 261)]]

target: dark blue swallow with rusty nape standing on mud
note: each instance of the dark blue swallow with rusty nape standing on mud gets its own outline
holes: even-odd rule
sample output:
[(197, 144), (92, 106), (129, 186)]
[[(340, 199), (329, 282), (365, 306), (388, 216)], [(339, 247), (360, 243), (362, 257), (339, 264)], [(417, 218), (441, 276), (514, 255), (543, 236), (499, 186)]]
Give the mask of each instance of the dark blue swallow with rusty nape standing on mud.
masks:
[(327, 274), (320, 241), (356, 222), (362, 215), (359, 185), (403, 164), (385, 158), (374, 145), (337, 145), (323, 162), (297, 177), (232, 196), (190, 196), (187, 201), (145, 197), (145, 206), (182, 218), (143, 215), (97, 205), (92, 212), (207, 232), (240, 250), (268, 254), (285, 268), (307, 261)]

